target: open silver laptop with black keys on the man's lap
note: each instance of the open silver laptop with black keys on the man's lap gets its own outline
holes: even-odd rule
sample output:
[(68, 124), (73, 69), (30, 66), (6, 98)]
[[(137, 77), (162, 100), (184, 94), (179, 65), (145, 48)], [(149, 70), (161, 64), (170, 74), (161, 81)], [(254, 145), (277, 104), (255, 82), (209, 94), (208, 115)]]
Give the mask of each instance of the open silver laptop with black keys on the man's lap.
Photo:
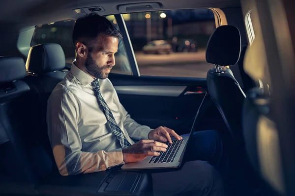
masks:
[(168, 146), (166, 152), (160, 152), (159, 156), (148, 156), (146, 159), (134, 162), (134, 163), (126, 163), (122, 165), (122, 170), (140, 170), (140, 169), (164, 169), (164, 168), (178, 168), (181, 165), (183, 155), (185, 149), (187, 147), (188, 141), (192, 137), (195, 129), (196, 120), (199, 115), (200, 108), (203, 104), (204, 99), (206, 98), (207, 92), (199, 106), (197, 114), (194, 119), (194, 123), (192, 125), (191, 131), (189, 135), (182, 136), (182, 140), (177, 140), (176, 138), (172, 139), (172, 144), (166, 142), (165, 144)]

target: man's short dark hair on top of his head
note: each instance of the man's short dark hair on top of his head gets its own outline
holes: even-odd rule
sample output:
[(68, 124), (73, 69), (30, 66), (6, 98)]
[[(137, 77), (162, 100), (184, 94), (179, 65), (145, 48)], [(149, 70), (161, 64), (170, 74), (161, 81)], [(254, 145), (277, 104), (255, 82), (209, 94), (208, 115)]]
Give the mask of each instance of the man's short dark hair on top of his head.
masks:
[(84, 44), (89, 44), (89, 41), (94, 40), (99, 34), (122, 38), (122, 33), (108, 19), (91, 13), (76, 20), (73, 29), (73, 43), (75, 45), (78, 39), (83, 38), (83, 41), (86, 42)]

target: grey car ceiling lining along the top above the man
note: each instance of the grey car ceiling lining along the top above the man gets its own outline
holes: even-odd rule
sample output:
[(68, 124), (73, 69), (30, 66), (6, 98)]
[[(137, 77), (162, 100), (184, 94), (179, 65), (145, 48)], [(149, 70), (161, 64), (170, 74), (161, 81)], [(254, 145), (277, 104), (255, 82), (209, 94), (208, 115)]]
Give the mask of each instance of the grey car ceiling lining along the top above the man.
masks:
[[(66, 19), (77, 19), (73, 9), (102, 6), (100, 15), (118, 14), (118, 5), (140, 2), (160, 2), (160, 10), (191, 8), (240, 7), (239, 0), (1, 0), (0, 23), (23, 28)], [(145, 10), (145, 11), (154, 11)]]

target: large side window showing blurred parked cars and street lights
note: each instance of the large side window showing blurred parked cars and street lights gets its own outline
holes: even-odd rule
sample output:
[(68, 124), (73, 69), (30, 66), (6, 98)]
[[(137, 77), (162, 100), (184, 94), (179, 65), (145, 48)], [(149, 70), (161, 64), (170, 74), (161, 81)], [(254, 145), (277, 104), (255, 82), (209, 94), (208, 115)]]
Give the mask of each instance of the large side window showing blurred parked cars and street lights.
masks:
[(210, 9), (131, 13), (125, 24), (141, 75), (205, 78), (214, 67), (205, 58)]

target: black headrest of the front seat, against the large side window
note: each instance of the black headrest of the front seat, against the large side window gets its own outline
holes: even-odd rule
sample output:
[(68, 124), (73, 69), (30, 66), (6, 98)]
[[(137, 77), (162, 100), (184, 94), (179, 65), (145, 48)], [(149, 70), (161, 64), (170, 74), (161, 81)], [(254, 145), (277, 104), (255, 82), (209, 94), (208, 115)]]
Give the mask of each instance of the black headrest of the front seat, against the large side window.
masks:
[(241, 36), (232, 25), (219, 26), (212, 33), (206, 50), (206, 61), (220, 66), (236, 65), (241, 53)]

